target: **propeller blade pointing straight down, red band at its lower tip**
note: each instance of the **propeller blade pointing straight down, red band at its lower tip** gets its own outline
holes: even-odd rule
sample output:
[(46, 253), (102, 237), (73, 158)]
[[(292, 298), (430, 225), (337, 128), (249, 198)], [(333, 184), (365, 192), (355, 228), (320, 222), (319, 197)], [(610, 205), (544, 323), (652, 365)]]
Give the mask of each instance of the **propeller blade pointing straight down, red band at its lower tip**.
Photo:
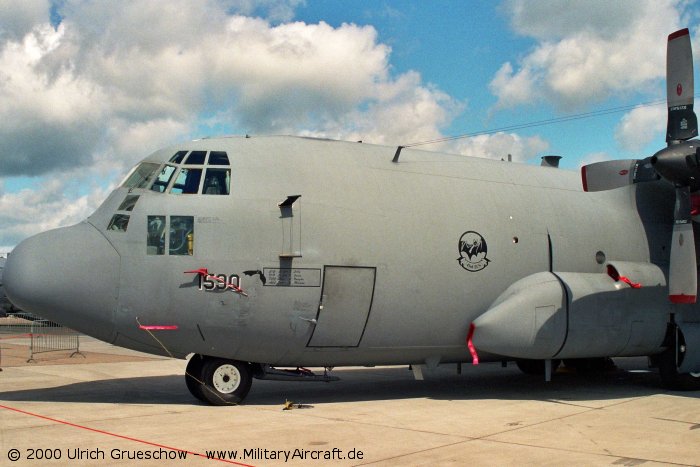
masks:
[(695, 236), (690, 209), (690, 187), (677, 186), (668, 280), (668, 298), (673, 303), (695, 303), (697, 294)]

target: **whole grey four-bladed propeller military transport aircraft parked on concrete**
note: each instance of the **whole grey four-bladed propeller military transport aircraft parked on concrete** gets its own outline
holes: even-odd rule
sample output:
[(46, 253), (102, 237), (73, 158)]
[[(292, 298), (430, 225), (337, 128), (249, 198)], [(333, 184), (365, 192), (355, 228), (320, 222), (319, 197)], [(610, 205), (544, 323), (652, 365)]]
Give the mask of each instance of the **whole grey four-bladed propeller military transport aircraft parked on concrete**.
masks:
[[(190, 358), (198, 399), (306, 366), (516, 361), (546, 377), (650, 356), (700, 389), (700, 150), (687, 29), (668, 40), (668, 147), (576, 172), (303, 137), (145, 158), (86, 221), (23, 241), (19, 307)], [(289, 368), (289, 369), (284, 369)]]

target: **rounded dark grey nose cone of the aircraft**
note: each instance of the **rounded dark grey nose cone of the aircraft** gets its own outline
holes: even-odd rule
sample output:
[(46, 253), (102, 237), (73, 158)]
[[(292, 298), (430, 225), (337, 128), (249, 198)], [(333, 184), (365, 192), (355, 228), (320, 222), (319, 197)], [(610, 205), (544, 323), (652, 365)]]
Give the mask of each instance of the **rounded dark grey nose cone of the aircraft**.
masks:
[(18, 308), (112, 340), (119, 254), (87, 222), (24, 240), (8, 257), (3, 282)]

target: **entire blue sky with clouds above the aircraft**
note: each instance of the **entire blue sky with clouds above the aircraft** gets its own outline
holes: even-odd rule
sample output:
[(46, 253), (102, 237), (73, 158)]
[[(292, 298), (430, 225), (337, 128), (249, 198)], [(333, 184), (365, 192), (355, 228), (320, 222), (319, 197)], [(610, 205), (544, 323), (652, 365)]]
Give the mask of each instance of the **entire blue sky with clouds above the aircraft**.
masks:
[[(697, 0), (0, 0), (0, 253), (202, 136), (489, 132), (424, 148), (644, 157), (664, 146), (682, 27), (697, 64)], [(551, 119), (567, 121), (529, 126)]]

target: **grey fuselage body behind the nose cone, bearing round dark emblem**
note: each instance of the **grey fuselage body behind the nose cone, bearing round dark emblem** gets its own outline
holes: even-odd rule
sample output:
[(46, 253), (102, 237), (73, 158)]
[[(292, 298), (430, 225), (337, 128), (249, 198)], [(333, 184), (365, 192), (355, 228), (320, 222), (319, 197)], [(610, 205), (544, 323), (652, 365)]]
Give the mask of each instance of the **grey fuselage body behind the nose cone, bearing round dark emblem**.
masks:
[[(668, 261), (663, 182), (584, 193), (566, 170), (413, 149), (393, 163), (393, 147), (296, 137), (204, 139), (145, 161), (190, 150), (228, 154), (229, 195), (120, 187), (88, 219), (120, 258), (117, 345), (272, 365), (470, 361), (470, 323), (511, 284)], [(128, 228), (107, 230), (128, 195)], [(170, 242), (187, 241), (173, 217), (191, 217), (192, 254), (147, 254), (149, 216)], [(201, 268), (247, 296), (200, 290), (186, 271)]]

